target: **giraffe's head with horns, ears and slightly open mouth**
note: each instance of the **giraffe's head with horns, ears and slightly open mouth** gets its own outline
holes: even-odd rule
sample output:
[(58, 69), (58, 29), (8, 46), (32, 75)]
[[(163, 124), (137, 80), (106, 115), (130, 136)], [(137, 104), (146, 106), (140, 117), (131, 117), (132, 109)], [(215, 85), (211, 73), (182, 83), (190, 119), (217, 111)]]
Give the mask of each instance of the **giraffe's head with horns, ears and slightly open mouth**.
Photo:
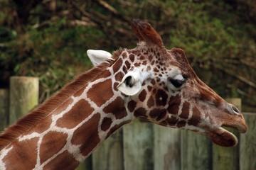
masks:
[[(139, 38), (137, 47), (116, 52), (112, 64), (113, 87), (124, 98), (127, 112), (166, 127), (193, 130), (217, 145), (235, 146), (237, 138), (223, 126), (247, 131), (238, 108), (197, 77), (183, 50), (166, 50), (149, 23), (134, 20), (132, 29)], [(108, 52), (87, 53), (94, 64), (113, 60)]]

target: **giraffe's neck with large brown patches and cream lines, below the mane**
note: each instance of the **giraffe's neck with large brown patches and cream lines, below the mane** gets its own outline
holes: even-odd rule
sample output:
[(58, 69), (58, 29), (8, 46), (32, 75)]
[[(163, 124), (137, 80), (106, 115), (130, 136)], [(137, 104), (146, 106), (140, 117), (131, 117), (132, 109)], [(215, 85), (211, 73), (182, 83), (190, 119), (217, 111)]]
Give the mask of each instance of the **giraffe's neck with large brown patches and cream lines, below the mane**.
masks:
[(129, 123), (133, 117), (113, 88), (111, 72), (102, 72), (4, 147), (0, 169), (75, 169), (112, 132)]

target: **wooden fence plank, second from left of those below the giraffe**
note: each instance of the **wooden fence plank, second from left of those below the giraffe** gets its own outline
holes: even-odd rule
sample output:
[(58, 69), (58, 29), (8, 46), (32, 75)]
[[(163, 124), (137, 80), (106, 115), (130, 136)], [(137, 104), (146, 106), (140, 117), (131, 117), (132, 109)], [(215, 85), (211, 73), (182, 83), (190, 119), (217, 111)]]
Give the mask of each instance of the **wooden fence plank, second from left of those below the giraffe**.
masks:
[(119, 129), (92, 153), (92, 169), (124, 169), (122, 149), (122, 129)]

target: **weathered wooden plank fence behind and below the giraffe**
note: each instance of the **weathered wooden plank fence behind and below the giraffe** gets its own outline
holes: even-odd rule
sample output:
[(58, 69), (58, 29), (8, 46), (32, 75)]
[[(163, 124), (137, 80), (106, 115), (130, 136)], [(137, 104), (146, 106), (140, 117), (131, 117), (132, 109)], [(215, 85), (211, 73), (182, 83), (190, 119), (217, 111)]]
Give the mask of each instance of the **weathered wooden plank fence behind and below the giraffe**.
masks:
[[(9, 90), (0, 89), (0, 130), (38, 104), (38, 78), (11, 77), (10, 85)], [(239, 99), (233, 101), (240, 107)], [(136, 120), (112, 134), (78, 170), (253, 170), (256, 114), (244, 116), (249, 130), (235, 133), (239, 145), (232, 148), (213, 145), (194, 132)]]

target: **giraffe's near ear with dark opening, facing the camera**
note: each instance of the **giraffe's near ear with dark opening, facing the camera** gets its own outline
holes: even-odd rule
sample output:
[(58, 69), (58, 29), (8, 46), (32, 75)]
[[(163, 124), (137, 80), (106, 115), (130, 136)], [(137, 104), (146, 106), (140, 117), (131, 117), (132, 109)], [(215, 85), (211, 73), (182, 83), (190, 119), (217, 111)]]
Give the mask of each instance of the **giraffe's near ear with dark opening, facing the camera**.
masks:
[(139, 72), (128, 72), (118, 84), (117, 89), (123, 94), (133, 96), (142, 89), (142, 83), (139, 81)]

